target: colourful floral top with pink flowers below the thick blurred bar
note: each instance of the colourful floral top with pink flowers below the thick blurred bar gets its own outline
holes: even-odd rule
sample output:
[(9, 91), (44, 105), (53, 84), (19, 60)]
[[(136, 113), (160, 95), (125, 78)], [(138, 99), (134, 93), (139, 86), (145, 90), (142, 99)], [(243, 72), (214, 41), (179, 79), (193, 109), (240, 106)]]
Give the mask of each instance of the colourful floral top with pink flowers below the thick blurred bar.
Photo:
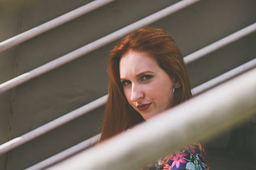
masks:
[(171, 153), (159, 159), (155, 164), (150, 164), (140, 170), (209, 170), (205, 164), (204, 148), (200, 143), (193, 143), (178, 152)]

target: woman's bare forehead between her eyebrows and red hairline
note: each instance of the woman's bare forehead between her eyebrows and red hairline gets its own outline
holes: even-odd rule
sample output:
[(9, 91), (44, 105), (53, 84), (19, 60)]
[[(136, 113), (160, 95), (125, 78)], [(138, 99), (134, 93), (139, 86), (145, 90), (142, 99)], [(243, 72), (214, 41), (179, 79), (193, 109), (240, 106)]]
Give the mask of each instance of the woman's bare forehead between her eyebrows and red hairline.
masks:
[(146, 52), (129, 50), (119, 63), (120, 78), (130, 78), (144, 71), (157, 72), (161, 69), (156, 60)]

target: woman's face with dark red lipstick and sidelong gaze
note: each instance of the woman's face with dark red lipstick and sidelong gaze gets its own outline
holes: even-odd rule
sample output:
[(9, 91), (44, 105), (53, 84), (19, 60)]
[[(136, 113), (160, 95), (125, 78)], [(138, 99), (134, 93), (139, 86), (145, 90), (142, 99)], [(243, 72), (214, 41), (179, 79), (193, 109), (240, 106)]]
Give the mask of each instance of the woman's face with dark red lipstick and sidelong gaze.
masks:
[(129, 50), (120, 60), (119, 71), (128, 103), (145, 120), (170, 108), (173, 81), (148, 53)]

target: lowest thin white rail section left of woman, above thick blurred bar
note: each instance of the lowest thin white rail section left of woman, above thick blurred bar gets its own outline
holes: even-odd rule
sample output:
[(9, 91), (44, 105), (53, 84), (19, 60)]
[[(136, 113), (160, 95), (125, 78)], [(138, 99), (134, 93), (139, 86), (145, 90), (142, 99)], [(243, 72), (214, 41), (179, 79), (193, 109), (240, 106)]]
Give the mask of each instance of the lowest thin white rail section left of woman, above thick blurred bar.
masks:
[(63, 152), (53, 155), (52, 157), (49, 157), (48, 159), (45, 159), (42, 162), (35, 164), (34, 166), (28, 167), (25, 170), (45, 169), (45, 167), (49, 167), (52, 164), (59, 162), (60, 160), (70, 157), (70, 155), (74, 155), (75, 153), (80, 152), (81, 150), (85, 150), (86, 148), (95, 145), (97, 141), (99, 141), (99, 138), (100, 134), (97, 134), (96, 136), (93, 136), (92, 138), (87, 139), (86, 141), (83, 141), (75, 146), (72, 146), (71, 148), (68, 148)]

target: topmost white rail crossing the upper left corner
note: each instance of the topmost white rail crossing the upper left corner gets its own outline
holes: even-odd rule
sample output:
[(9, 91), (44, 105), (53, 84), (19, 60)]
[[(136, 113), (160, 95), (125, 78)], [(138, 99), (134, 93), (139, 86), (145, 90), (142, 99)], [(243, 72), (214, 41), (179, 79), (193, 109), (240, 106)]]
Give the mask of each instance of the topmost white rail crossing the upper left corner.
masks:
[(38, 25), (37, 27), (34, 27), (33, 29), (29, 29), (28, 31), (22, 32), (21, 34), (18, 34), (17, 36), (13, 36), (10, 39), (6, 39), (5, 41), (2, 41), (0, 43), (0, 52), (3, 52), (4, 50), (11, 48), (12, 46), (19, 45), (20, 43), (27, 41), (28, 39), (31, 39), (35, 36), (38, 36), (39, 34), (42, 34), (42, 33), (49, 31), (55, 27), (58, 27), (61, 24), (65, 24), (66, 22), (69, 22), (70, 20), (80, 17), (90, 11), (97, 9), (97, 8), (100, 8), (101, 6), (111, 3), (112, 1), (115, 1), (115, 0), (92, 1), (91, 3), (85, 4), (84, 6), (77, 8), (76, 10), (72, 10), (68, 13), (65, 13), (64, 15), (61, 15), (60, 17), (54, 18), (48, 22), (45, 22), (44, 24)]

